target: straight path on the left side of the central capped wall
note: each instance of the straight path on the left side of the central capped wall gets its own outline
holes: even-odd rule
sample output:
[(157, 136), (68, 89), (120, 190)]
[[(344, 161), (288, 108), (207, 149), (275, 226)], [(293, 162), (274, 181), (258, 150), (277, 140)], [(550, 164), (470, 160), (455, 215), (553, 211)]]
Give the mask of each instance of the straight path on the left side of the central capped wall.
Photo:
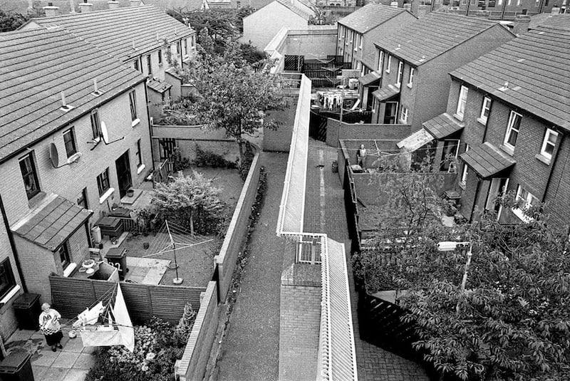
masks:
[(222, 344), (219, 381), (272, 381), (279, 376), (279, 291), (285, 242), (275, 230), (287, 154), (261, 152), (261, 165), (267, 172), (265, 203)]

